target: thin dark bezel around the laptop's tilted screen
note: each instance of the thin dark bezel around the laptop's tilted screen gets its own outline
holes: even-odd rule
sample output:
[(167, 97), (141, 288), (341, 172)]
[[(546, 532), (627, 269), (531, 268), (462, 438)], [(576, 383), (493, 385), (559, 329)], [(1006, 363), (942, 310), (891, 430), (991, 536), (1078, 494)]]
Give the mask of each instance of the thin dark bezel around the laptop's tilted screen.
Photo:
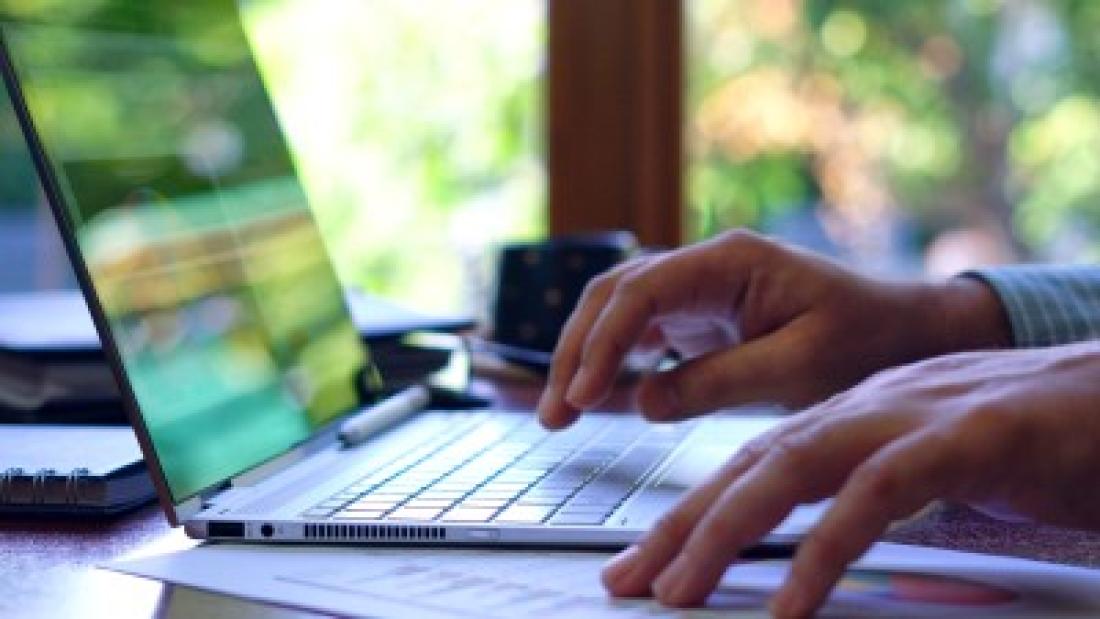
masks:
[[(238, 10), (239, 11), (239, 10)], [(240, 13), (237, 15), (240, 20)], [(255, 58), (252, 56), (253, 65), (255, 66)], [(260, 74), (260, 68), (256, 66), (256, 74)], [(164, 468), (161, 465), (161, 460), (157, 456), (156, 447), (154, 446), (150, 429), (145, 423), (145, 418), (141, 412), (141, 405), (138, 401), (136, 395), (130, 383), (129, 375), (127, 374), (125, 366), (122, 362), (122, 356), (120, 354), (118, 343), (111, 331), (110, 321), (107, 317), (107, 312), (100, 302), (99, 295), (96, 291), (96, 287), (91, 277), (91, 273), (88, 269), (87, 262), (84, 258), (84, 253), (80, 250), (79, 243), (77, 241), (76, 226), (73, 224), (73, 220), (69, 215), (69, 210), (66, 208), (65, 195), (62, 190), (61, 184), (54, 174), (54, 166), (51, 161), (50, 154), (46, 152), (45, 143), (42, 140), (37, 126), (34, 122), (33, 114), (31, 112), (30, 106), (26, 103), (26, 99), (23, 93), (22, 86), (20, 84), (19, 71), (15, 68), (14, 60), (11, 56), (11, 52), (8, 45), (8, 40), (6, 35), (6, 30), (0, 25), (0, 74), (3, 76), (3, 82), (7, 87), (7, 92), (9, 99), (11, 100), (12, 107), (15, 110), (15, 115), (19, 120), (20, 129), (22, 130), (23, 137), (26, 141), (28, 147), (31, 152), (31, 158), (34, 162), (35, 170), (38, 175), (38, 180), (42, 184), (42, 189), (48, 202), (50, 211), (53, 214), (54, 221), (57, 223), (57, 229), (62, 237), (63, 245), (65, 246), (65, 252), (69, 258), (69, 263), (73, 266), (73, 272), (76, 275), (76, 279), (80, 286), (80, 290), (84, 292), (85, 300), (88, 305), (89, 313), (91, 314), (92, 323), (96, 325), (96, 332), (99, 335), (100, 342), (103, 347), (105, 356), (107, 357), (108, 365), (110, 366), (111, 373), (114, 376), (116, 382), (119, 386), (119, 394), (122, 400), (122, 407), (130, 420), (131, 425), (134, 429), (134, 434), (138, 438), (138, 443), (141, 446), (142, 453), (145, 456), (146, 468), (148, 469), (150, 477), (153, 480), (153, 485), (156, 488), (157, 498), (161, 502), (168, 521), (173, 527), (178, 527), (188, 517), (198, 512), (207, 499), (219, 491), (222, 491), (230, 487), (231, 480), (235, 477), (254, 474), (260, 469), (270, 468), (272, 472), (282, 468), (278, 466), (278, 461), (285, 458), (288, 454), (294, 455), (299, 452), (302, 445), (310, 443), (314, 439), (318, 436), (328, 436), (332, 434), (332, 428), (341, 422), (342, 419), (348, 417), (350, 413), (355, 412), (358, 409), (349, 409), (328, 423), (324, 423), (318, 428), (315, 428), (310, 435), (301, 441), (300, 443), (289, 445), (282, 453), (277, 453), (270, 458), (258, 462), (245, 469), (234, 473), (226, 477), (220, 482), (200, 489), (198, 493), (191, 495), (190, 497), (180, 499), (176, 501), (172, 488), (168, 484), (168, 479), (164, 473)], [(271, 108), (273, 118), (275, 119), (276, 125), (279, 126), (282, 132), (282, 122), (276, 113), (274, 106), (271, 101), (271, 97), (267, 97), (267, 104)], [(283, 132), (285, 136), (285, 132)], [(289, 145), (287, 145), (289, 148)], [(293, 162), (292, 165), (297, 167), (297, 164)], [(316, 225), (316, 222), (315, 222)], [(321, 251), (324, 252), (324, 257), (331, 264), (331, 256), (328, 254), (328, 248), (322, 246)], [(351, 320), (350, 311), (346, 307), (346, 301), (341, 299), (344, 303), (344, 311), (348, 316), (349, 321)], [(371, 373), (374, 366), (374, 360), (370, 351), (366, 352), (366, 367), (360, 368), (359, 375), (361, 379), (355, 386), (356, 389), (364, 395), (364, 399), (370, 399), (372, 395), (376, 395), (383, 390), (383, 386), (380, 385), (366, 385), (366, 380), (362, 379), (364, 373)], [(370, 391), (370, 393), (367, 393)], [(311, 451), (311, 450), (309, 450)], [(296, 460), (296, 458), (293, 458)]]

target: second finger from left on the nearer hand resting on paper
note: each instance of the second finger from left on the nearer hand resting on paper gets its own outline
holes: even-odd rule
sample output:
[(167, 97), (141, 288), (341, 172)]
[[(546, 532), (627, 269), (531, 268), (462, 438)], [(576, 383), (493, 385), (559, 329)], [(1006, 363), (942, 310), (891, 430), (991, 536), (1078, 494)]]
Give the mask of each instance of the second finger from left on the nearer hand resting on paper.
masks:
[(669, 606), (706, 599), (745, 548), (773, 530), (799, 505), (833, 495), (853, 468), (899, 432), (887, 416), (827, 418), (787, 434), (732, 484), (698, 521), (683, 549), (653, 583)]

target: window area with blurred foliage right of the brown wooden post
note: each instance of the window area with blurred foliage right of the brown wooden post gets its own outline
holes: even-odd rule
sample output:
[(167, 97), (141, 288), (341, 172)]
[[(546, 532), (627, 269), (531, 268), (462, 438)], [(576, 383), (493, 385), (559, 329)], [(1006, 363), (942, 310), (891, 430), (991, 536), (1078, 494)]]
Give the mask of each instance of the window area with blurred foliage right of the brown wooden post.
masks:
[(884, 270), (1100, 258), (1100, 5), (692, 0), (691, 239)]

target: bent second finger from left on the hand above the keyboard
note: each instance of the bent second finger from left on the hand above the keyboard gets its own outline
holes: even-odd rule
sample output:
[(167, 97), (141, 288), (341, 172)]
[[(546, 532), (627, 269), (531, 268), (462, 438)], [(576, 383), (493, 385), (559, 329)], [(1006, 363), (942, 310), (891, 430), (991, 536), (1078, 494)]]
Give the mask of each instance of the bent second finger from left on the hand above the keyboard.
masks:
[(733, 303), (723, 299), (740, 297), (748, 269), (730, 264), (730, 253), (723, 250), (715, 244), (688, 247), (618, 280), (583, 343), (580, 367), (565, 394), (570, 405), (585, 409), (603, 401), (626, 354), (661, 316), (733, 311)]

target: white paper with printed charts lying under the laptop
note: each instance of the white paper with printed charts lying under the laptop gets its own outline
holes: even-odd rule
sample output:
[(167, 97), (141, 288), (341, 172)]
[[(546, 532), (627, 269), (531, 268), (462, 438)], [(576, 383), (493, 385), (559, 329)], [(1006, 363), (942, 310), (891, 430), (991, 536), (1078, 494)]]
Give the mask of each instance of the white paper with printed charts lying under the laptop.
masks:
[[(598, 579), (608, 556), (208, 544), (123, 561), (110, 568), (342, 616), (429, 618), (766, 617), (767, 601), (787, 572), (785, 562), (735, 566), (707, 609), (683, 614), (649, 600), (608, 598)], [(928, 601), (930, 596), (938, 601)], [(878, 544), (837, 589), (822, 616), (1096, 617), (1100, 616), (1100, 572)]]

